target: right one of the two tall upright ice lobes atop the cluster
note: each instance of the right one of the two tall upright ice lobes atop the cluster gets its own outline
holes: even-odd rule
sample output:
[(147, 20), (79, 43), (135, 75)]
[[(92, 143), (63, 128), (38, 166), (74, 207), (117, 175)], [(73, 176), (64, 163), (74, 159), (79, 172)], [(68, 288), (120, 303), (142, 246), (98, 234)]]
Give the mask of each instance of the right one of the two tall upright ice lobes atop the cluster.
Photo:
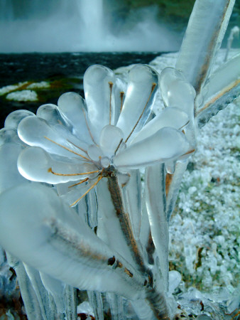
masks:
[(131, 68), (123, 110), (116, 124), (124, 132), (125, 141), (145, 124), (157, 90), (158, 73), (155, 70), (148, 65)]

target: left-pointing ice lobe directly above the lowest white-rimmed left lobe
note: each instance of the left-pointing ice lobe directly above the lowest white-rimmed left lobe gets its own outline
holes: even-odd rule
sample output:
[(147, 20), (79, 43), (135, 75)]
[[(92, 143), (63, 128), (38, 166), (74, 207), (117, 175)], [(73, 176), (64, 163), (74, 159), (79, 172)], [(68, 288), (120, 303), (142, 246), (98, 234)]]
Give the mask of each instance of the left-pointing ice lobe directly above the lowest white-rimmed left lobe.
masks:
[[(50, 127), (45, 119), (39, 117), (26, 117), (18, 125), (18, 136), (30, 146), (40, 146), (52, 154), (60, 154), (67, 158), (79, 158), (85, 155), (70, 140), (76, 140), (69, 132), (67, 137), (59, 134), (54, 127)], [(60, 144), (60, 145), (59, 145)]]

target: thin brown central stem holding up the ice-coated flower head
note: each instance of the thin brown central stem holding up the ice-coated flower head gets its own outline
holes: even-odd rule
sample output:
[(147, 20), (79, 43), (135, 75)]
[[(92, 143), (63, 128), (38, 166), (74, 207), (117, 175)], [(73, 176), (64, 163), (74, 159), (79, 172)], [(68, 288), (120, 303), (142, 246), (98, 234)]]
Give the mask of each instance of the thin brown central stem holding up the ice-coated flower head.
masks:
[(133, 237), (133, 230), (131, 228), (129, 214), (124, 210), (121, 189), (119, 187), (119, 182), (114, 167), (109, 166), (109, 168), (104, 172), (104, 176), (108, 178), (108, 187), (111, 194), (111, 200), (114, 204), (116, 215), (119, 218), (121, 229), (126, 237), (126, 242), (131, 248), (133, 259), (138, 265), (138, 268), (142, 274), (148, 275), (149, 283), (146, 284), (146, 300), (148, 305), (151, 307), (156, 319), (170, 319), (168, 316), (168, 305), (165, 299), (165, 294), (163, 292), (158, 292), (156, 288), (153, 287), (153, 274), (144, 263), (137, 242)]

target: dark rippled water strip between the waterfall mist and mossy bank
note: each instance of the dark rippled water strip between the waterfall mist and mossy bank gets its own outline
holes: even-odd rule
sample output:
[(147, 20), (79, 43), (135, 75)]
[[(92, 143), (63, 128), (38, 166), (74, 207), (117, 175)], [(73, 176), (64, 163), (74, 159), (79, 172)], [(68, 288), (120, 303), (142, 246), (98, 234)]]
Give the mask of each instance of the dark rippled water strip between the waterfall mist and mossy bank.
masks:
[(160, 53), (22, 53), (0, 54), (0, 87), (26, 80), (63, 75), (80, 77), (93, 64), (111, 69), (131, 63), (149, 63)]

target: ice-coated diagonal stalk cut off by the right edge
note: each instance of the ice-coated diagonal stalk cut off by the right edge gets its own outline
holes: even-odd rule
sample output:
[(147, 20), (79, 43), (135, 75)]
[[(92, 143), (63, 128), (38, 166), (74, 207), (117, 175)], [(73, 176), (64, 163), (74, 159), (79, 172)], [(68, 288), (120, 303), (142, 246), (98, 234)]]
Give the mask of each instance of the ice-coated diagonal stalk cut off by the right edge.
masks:
[(240, 54), (221, 65), (209, 77), (202, 91), (205, 91), (204, 104), (196, 111), (199, 127), (239, 97)]

